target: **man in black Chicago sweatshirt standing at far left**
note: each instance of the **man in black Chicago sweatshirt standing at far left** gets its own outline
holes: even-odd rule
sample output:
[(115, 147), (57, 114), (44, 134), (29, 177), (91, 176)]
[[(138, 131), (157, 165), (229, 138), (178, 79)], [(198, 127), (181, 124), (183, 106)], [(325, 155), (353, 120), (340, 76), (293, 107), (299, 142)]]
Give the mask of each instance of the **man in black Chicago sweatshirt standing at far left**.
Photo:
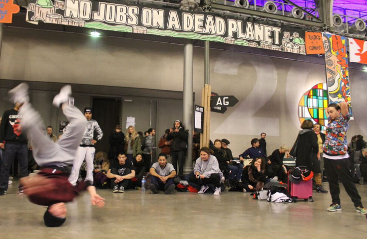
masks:
[[(18, 94), (17, 97), (10, 98), (15, 107), (4, 112), (0, 124), (0, 148), (3, 149), (0, 171), (0, 196), (6, 194), (9, 171), (15, 157), (19, 162), (20, 178), (28, 176), (27, 137), (22, 133), (20, 126), (22, 116), (18, 115), (18, 111), (23, 103), (29, 101), (29, 97), (26, 94), (28, 87), (22, 90), (24, 94)], [(9, 93), (11, 94), (11, 92)], [(23, 190), (20, 188), (19, 193), (23, 193)]]

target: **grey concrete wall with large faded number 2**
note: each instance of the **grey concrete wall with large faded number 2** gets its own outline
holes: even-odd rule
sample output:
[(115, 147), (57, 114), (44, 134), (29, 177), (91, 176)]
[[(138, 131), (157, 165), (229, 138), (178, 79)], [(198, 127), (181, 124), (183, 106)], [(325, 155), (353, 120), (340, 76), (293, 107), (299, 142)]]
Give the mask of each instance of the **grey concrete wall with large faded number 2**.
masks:
[[(211, 139), (229, 139), (234, 155), (242, 153), (250, 146), (250, 140), (263, 131), (268, 134), (268, 152), (281, 144), (292, 146), (300, 129), (297, 106), (302, 95), (325, 82), (322, 61), (307, 63), (220, 50), (211, 50), (210, 58), (212, 91), (234, 95), (239, 100), (223, 115), (212, 113)], [(196, 47), (194, 92), (198, 105), (203, 78), (204, 49)], [(366, 72), (350, 69), (355, 120), (351, 121), (349, 137), (367, 135), (366, 78)], [(4, 28), (0, 79), (182, 91), (183, 46)], [(6, 91), (0, 89), (1, 99)], [(37, 94), (32, 100), (50, 101), (51, 96)], [(108, 95), (108, 90), (103, 94)], [(83, 104), (90, 101), (83, 97)], [(169, 98), (164, 94), (161, 97)], [(0, 111), (5, 105), (0, 102)], [(42, 113), (45, 121), (53, 117), (52, 110), (48, 111)], [(159, 109), (159, 114), (164, 112), (172, 114), (167, 104)]]

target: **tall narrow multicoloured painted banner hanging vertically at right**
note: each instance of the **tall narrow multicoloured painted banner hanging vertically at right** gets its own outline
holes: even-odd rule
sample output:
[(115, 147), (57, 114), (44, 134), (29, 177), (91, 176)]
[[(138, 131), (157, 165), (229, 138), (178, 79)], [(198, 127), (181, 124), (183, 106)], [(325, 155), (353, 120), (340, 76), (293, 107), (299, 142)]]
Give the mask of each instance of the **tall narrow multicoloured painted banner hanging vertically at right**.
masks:
[[(331, 33), (323, 33), (323, 41), (329, 104), (343, 101), (351, 104), (346, 47), (347, 38)], [(350, 108), (350, 114), (353, 117), (352, 107)]]

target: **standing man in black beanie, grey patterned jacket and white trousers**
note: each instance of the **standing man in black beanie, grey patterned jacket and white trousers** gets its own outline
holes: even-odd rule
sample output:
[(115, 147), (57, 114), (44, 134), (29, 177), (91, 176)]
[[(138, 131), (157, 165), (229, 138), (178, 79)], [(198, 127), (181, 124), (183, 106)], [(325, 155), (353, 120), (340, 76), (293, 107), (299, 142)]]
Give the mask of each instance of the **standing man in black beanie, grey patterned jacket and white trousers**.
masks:
[[(94, 145), (97, 143), (97, 140), (101, 140), (103, 137), (103, 132), (99, 127), (98, 122), (92, 119), (92, 108), (84, 108), (84, 117), (88, 120), (88, 122), (85, 126), (84, 135), (81, 139), (80, 145), (76, 151), (73, 168), (69, 177), (69, 182), (73, 186), (75, 186), (76, 181), (78, 181), (80, 166), (84, 160), (87, 163), (87, 175), (85, 177), (85, 181), (93, 184), (93, 159), (95, 153)], [(94, 139), (94, 131), (97, 133), (97, 140)]]

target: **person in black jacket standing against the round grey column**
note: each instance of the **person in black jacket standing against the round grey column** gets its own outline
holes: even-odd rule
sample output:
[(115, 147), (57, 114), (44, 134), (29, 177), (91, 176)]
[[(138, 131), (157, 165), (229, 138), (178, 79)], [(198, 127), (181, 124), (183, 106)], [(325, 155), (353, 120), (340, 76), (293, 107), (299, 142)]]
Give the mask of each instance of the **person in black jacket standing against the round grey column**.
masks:
[[(187, 139), (189, 132), (185, 130), (180, 120), (175, 120), (173, 128), (170, 128), (167, 140), (171, 140), (171, 157), (172, 164), (178, 175), (183, 174), (183, 166), (185, 162), (185, 152), (187, 150)], [(177, 162), (179, 170), (177, 170)]]

